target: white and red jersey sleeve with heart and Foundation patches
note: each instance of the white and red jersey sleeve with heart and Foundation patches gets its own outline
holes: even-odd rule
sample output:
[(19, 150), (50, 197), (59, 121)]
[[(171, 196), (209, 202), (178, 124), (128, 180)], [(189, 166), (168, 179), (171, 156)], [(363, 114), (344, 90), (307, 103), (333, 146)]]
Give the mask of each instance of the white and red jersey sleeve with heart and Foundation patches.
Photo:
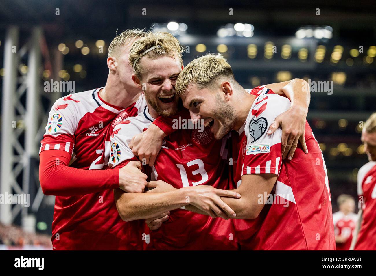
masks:
[(250, 109), (244, 125), (246, 146), (241, 175), (279, 174), (282, 164), (282, 130), (278, 128), (271, 135), (268, 135), (267, 131), (274, 119), (290, 108), (291, 102), (283, 97), (279, 97), (276, 101), (274, 97), (279, 96), (264, 87), (259, 90), (258, 97), (255, 98)]

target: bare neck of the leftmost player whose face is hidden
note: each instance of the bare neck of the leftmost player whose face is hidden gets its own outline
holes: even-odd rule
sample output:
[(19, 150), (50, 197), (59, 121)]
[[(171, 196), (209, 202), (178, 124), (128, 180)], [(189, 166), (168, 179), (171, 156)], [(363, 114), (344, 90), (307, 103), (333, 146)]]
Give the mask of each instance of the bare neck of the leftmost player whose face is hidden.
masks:
[(126, 84), (120, 81), (117, 75), (113, 75), (111, 72), (108, 75), (105, 89), (99, 91), (99, 95), (103, 101), (123, 108), (137, 101), (140, 94), (140, 89), (127, 87)]

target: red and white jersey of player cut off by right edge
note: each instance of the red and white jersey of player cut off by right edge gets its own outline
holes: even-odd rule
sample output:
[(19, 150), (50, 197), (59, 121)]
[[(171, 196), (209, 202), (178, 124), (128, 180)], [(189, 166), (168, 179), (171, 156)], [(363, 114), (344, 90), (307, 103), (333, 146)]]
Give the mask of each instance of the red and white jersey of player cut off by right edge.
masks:
[(363, 213), (355, 250), (376, 250), (376, 161), (359, 169), (358, 195)]

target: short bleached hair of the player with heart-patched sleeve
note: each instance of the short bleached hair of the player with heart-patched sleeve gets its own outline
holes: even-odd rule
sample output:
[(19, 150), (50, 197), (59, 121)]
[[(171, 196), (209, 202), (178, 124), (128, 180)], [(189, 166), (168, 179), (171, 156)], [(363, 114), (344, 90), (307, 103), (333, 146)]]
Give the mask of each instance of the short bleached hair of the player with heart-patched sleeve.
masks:
[(191, 61), (177, 77), (175, 92), (184, 95), (190, 84), (198, 84), (200, 88), (209, 86), (220, 76), (234, 79), (230, 64), (221, 54), (206, 54)]

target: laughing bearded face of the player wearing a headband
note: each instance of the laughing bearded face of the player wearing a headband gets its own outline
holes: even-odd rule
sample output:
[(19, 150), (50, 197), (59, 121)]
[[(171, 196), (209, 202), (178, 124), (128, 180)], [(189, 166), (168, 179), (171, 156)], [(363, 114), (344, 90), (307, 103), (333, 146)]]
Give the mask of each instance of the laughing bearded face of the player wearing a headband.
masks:
[(182, 71), (180, 61), (169, 56), (157, 59), (150, 59), (146, 56), (139, 62), (144, 72), (138, 85), (143, 88), (148, 105), (158, 115), (174, 115), (179, 102), (179, 96), (175, 94), (175, 83)]

